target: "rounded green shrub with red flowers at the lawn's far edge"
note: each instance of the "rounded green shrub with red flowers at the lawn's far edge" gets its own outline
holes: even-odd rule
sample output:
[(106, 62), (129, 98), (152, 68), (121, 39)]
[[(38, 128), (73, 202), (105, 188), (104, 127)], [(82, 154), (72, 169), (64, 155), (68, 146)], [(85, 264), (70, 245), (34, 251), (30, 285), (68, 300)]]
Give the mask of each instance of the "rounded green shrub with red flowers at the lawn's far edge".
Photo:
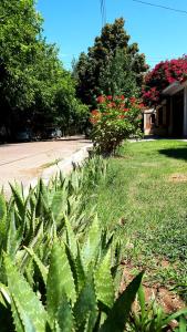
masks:
[(115, 153), (122, 141), (139, 136), (141, 110), (143, 104), (135, 97), (97, 97), (97, 110), (92, 111), (92, 138), (96, 151), (104, 155)]

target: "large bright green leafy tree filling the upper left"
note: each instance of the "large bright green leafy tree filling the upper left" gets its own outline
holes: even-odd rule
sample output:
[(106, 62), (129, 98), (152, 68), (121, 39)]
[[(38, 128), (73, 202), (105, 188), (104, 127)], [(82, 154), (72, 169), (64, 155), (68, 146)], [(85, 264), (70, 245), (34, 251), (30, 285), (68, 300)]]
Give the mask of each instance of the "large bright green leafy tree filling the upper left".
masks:
[[(0, 127), (11, 135), (20, 127), (66, 126), (85, 107), (75, 100), (75, 84), (42, 38), (34, 0), (0, 2)], [(71, 120), (71, 121), (70, 121)]]

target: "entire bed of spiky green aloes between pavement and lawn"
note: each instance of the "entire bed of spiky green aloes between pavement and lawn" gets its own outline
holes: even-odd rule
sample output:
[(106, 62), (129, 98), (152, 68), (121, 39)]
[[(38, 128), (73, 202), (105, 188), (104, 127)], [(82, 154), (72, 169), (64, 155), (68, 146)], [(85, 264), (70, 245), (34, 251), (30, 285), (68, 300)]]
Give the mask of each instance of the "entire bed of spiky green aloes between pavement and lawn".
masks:
[[(95, 183), (90, 181), (91, 175)], [(66, 178), (60, 174), (48, 186), (40, 180), (27, 197), (15, 186), (9, 203), (1, 199), (1, 219), (8, 222), (0, 256), (3, 331), (137, 331), (135, 324), (141, 322), (142, 329), (146, 317), (150, 326), (159, 326), (160, 311), (149, 315), (141, 297), (143, 272), (116, 295), (118, 227), (108, 229), (93, 212), (84, 212), (83, 194), (105, 176), (106, 162), (95, 157)], [(64, 199), (61, 204), (59, 193)], [(142, 309), (134, 313), (137, 292)], [(163, 314), (164, 326), (179, 319), (181, 330), (186, 312)]]

